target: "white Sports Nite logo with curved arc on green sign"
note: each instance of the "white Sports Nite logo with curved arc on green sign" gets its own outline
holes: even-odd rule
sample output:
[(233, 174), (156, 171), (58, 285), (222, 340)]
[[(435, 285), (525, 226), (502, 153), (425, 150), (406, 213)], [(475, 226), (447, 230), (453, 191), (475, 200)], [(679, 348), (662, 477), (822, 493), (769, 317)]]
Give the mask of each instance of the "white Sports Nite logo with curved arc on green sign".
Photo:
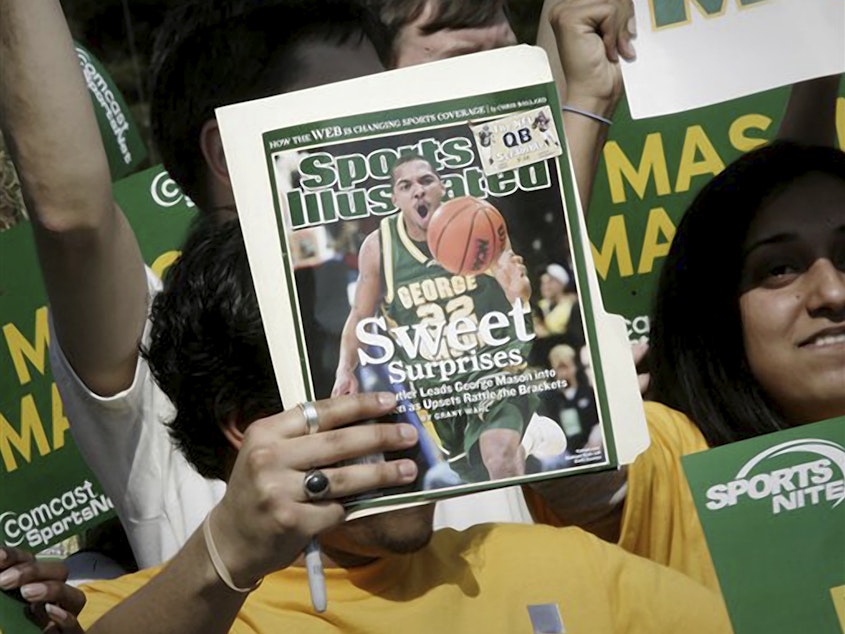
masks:
[[(816, 459), (807, 460), (808, 454)], [(767, 461), (787, 455), (801, 456), (803, 461), (789, 467), (766, 468)], [(835, 508), (845, 500), (845, 448), (818, 438), (770, 447), (745, 463), (733, 480), (707, 489), (706, 506), (718, 511), (739, 504), (745, 497), (770, 499), (774, 515), (821, 504)]]

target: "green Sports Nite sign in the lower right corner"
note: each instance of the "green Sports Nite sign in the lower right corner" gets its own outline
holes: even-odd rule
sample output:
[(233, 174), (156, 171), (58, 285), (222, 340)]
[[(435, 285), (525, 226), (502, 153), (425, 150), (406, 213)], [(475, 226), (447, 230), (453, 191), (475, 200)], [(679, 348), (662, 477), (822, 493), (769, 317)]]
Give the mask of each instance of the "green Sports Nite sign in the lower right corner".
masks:
[(683, 465), (735, 633), (845, 632), (845, 418)]

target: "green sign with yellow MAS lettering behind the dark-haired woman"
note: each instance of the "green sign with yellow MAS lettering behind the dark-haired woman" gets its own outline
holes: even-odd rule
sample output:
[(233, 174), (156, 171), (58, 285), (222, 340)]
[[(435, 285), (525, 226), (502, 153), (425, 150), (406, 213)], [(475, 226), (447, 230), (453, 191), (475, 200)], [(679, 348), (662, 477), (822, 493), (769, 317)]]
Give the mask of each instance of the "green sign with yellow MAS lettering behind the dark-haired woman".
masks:
[[(845, 82), (840, 90), (845, 95)], [(775, 138), (788, 95), (781, 88), (636, 121), (626, 102), (617, 108), (588, 230), (605, 307), (625, 317), (632, 341), (648, 340), (660, 267), (695, 193), (741, 154)], [(845, 147), (845, 96), (837, 124)]]

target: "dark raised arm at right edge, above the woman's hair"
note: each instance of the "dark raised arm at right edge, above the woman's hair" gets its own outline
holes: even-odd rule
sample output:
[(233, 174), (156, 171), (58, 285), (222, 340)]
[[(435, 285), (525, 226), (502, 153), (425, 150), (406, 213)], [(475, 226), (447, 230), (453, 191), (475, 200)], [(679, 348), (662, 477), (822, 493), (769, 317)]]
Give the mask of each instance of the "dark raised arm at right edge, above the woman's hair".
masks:
[[(811, 145), (836, 144), (836, 100), (841, 75), (819, 77), (792, 86), (778, 139)], [(845, 131), (843, 131), (845, 134)]]

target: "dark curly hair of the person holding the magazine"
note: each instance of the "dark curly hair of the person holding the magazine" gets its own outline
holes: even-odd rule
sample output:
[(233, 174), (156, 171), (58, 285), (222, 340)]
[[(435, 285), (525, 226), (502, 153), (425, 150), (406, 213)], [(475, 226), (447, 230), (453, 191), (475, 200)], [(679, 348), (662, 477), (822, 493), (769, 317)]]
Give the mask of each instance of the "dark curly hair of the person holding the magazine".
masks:
[(226, 479), (220, 424), (283, 409), (240, 224), (200, 216), (152, 306), (141, 353), (176, 407), (176, 445), (206, 478)]

